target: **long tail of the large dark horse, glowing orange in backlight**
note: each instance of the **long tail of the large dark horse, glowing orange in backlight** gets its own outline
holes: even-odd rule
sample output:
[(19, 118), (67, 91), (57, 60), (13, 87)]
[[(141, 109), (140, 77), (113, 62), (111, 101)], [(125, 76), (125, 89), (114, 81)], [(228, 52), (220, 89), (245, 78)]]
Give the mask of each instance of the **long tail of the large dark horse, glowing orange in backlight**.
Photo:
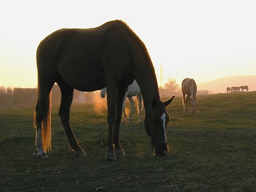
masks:
[[(39, 88), (38, 88), (38, 96), (39, 96)], [(50, 151), (51, 150), (51, 142), (52, 142), (52, 131), (51, 131), (51, 100), (52, 100), (52, 91), (47, 99), (45, 106), (45, 114), (43, 115), (42, 121), (42, 144), (43, 150)], [(36, 129), (36, 110), (34, 112), (34, 127)]]

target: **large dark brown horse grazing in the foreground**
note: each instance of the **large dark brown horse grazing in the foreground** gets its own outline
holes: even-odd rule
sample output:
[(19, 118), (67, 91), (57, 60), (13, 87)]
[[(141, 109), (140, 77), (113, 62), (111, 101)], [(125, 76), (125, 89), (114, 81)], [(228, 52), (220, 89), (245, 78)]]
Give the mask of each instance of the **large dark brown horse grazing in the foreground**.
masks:
[(110, 21), (89, 29), (60, 29), (47, 36), (37, 48), (38, 99), (35, 107), (37, 157), (51, 150), (51, 89), (61, 90), (58, 114), (72, 150), (85, 156), (70, 126), (73, 90), (96, 91), (107, 87), (105, 159), (125, 155), (119, 141), (122, 104), (127, 87), (136, 80), (145, 107), (145, 129), (156, 156), (168, 153), (166, 111), (174, 96), (160, 101), (155, 70), (138, 36), (122, 21)]

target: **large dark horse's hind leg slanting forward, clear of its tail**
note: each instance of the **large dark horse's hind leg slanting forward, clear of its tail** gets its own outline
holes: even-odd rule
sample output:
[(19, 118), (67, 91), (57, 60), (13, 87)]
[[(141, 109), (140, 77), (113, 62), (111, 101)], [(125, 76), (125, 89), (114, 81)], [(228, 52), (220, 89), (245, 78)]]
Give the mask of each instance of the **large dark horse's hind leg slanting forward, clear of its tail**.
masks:
[(75, 150), (76, 156), (85, 156), (85, 151), (78, 145), (75, 135), (70, 126), (70, 107), (73, 100), (73, 88), (66, 83), (58, 84), (61, 89), (61, 106), (58, 114), (61, 117), (61, 122), (67, 135), (70, 148)]

